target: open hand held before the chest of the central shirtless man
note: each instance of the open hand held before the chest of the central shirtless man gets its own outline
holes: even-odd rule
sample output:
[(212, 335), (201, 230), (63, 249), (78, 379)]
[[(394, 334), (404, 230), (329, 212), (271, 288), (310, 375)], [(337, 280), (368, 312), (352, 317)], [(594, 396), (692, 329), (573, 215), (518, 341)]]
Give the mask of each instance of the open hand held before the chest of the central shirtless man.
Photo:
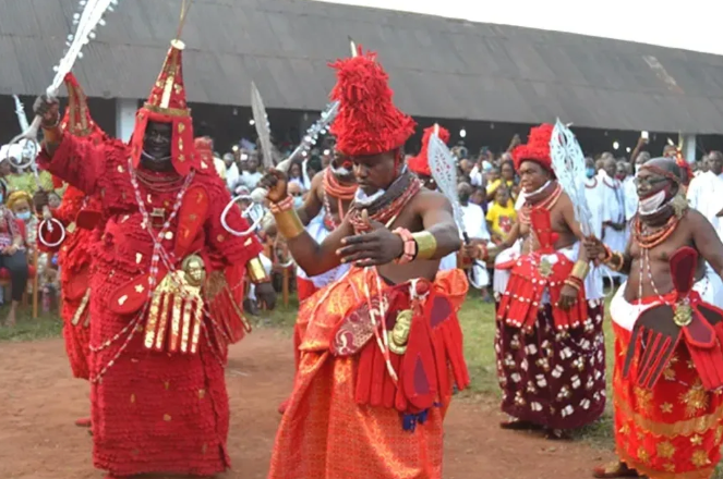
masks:
[(362, 218), (372, 231), (341, 240), (344, 246), (336, 251), (341, 262), (365, 268), (386, 265), (399, 258), (405, 250), (401, 237), (378, 221), (370, 220), (366, 210), (362, 211)]

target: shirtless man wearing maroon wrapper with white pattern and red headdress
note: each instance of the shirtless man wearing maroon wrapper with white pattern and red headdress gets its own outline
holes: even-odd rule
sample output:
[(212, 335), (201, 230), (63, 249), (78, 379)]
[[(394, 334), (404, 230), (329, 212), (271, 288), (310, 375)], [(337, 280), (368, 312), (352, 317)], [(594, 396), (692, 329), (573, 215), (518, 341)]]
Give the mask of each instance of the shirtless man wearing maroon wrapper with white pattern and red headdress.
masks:
[[(551, 439), (598, 419), (605, 408), (602, 292), (591, 282), (570, 198), (555, 180), (552, 125), (513, 151), (523, 202), (495, 266), (509, 280), (497, 304), (495, 353), (503, 429), (545, 429)], [(517, 243), (521, 238), (521, 244)]]

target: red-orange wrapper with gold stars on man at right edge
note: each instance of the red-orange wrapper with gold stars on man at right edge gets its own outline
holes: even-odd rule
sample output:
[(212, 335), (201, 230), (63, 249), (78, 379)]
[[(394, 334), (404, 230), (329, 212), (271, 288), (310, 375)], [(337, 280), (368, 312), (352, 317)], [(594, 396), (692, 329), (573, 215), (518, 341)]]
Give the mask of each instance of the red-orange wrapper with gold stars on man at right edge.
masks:
[(650, 478), (709, 479), (721, 460), (723, 394), (704, 390), (683, 342), (652, 390), (638, 386), (637, 364), (623, 374), (630, 332), (613, 326), (618, 456)]

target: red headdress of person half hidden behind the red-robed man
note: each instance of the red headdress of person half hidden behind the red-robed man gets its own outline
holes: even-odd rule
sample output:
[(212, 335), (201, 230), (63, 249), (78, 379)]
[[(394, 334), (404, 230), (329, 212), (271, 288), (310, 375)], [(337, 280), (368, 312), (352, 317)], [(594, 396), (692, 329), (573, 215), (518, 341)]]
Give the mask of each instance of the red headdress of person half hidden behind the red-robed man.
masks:
[[(68, 73), (64, 78), (65, 88), (68, 89), (68, 107), (65, 114), (60, 122), (60, 127), (73, 136), (86, 138), (94, 145), (98, 145), (108, 139), (108, 135), (91, 116), (91, 109), (88, 108), (88, 99), (85, 91), (77, 82), (77, 78), (72, 73)], [(63, 182), (53, 176), (52, 185), (56, 188), (62, 188)]]

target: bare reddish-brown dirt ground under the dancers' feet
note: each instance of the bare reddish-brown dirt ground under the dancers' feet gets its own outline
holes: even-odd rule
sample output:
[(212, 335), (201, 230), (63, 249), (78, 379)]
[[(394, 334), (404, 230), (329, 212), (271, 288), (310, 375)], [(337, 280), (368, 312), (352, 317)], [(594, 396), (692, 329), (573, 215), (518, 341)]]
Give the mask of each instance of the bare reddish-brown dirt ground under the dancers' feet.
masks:
[[(219, 479), (266, 477), (278, 404), (289, 392), (291, 340), (256, 330), (236, 345), (227, 372), (233, 470)], [(0, 478), (103, 479), (92, 438), (73, 425), (88, 413), (88, 386), (70, 376), (61, 340), (0, 344)], [(446, 479), (579, 479), (612, 455), (580, 443), (501, 431), (492, 406), (456, 401), (445, 428)], [(312, 478), (310, 478), (312, 479)]]

